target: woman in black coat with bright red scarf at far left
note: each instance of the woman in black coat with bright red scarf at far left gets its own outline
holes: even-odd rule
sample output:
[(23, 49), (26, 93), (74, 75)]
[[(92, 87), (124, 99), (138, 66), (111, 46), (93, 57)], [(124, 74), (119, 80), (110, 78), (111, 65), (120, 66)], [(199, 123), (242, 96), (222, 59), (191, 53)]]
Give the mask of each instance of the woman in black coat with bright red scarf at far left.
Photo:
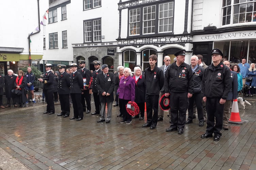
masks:
[(22, 70), (18, 71), (18, 77), (16, 78), (16, 81), (14, 82), (14, 86), (16, 89), (21, 91), (21, 95), (15, 95), (15, 107), (25, 107), (26, 101), (28, 100), (25, 94), (25, 88), (27, 84), (27, 79), (24, 77), (24, 72)]

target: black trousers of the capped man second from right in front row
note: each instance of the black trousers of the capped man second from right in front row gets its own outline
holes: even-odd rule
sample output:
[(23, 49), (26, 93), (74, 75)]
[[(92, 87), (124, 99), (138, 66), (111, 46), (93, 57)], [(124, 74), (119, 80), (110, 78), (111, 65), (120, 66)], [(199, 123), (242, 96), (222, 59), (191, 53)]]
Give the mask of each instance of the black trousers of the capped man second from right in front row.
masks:
[(188, 92), (171, 92), (170, 112), (172, 121), (170, 128), (184, 128), (186, 123), (186, 112), (188, 109), (188, 104)]

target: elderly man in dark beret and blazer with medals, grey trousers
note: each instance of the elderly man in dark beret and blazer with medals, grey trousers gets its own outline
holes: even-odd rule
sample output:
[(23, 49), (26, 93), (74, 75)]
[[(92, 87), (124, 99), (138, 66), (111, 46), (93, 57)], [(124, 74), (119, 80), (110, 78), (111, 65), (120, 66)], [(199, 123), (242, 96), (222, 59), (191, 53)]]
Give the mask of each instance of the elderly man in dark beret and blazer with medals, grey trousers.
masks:
[[(112, 115), (112, 104), (114, 101), (114, 88), (115, 88), (115, 77), (114, 74), (109, 72), (109, 66), (103, 64), (101, 66), (102, 72), (97, 74), (96, 86), (99, 91), (99, 100), (101, 105), (101, 117), (97, 121), (103, 122), (107, 118), (106, 123), (109, 123)], [(106, 104), (108, 112), (105, 113)]]

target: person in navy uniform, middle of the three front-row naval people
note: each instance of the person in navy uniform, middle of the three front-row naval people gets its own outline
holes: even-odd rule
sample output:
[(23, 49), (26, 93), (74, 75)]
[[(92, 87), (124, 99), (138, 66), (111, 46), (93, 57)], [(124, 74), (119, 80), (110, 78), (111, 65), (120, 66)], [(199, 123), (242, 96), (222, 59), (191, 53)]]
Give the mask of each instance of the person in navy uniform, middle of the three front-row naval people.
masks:
[(69, 117), (70, 114), (70, 107), (69, 107), (69, 88), (70, 88), (70, 75), (65, 72), (66, 66), (63, 64), (57, 65), (60, 76), (58, 79), (58, 93), (61, 103), (61, 113), (57, 116), (63, 116), (64, 118)]

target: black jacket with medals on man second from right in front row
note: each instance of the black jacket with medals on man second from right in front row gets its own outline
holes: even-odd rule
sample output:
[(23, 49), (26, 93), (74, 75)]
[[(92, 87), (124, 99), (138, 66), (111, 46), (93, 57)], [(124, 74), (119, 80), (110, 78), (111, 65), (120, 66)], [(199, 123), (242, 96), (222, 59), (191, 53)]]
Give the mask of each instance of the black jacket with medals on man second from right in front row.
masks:
[(176, 62), (167, 68), (164, 77), (164, 91), (189, 92), (193, 94), (194, 80), (191, 66), (182, 63), (179, 67)]

